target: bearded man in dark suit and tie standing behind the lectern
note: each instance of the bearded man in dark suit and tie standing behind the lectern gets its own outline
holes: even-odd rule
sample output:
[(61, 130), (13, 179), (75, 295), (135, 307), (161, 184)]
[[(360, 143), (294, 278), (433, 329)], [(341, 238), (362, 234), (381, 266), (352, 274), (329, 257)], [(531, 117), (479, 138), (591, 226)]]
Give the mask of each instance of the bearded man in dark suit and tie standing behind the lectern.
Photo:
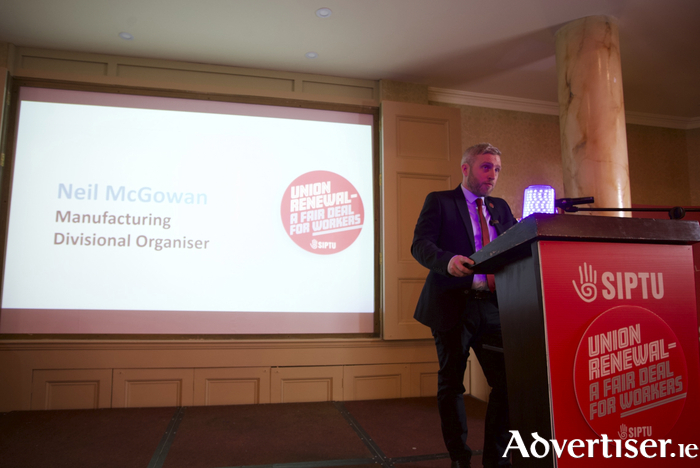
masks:
[(465, 151), (461, 185), (426, 197), (411, 245), (415, 259), (430, 270), (414, 317), (431, 328), (435, 339), (440, 363), (438, 409), (452, 468), (471, 466), (463, 397), (469, 348), (492, 387), (483, 465), (510, 466), (510, 460), (502, 457), (510, 433), (495, 285), (491, 275), (474, 274), (469, 269), (473, 261), (468, 258), (516, 224), (506, 201), (489, 196), (501, 171), (500, 155), (489, 143)]

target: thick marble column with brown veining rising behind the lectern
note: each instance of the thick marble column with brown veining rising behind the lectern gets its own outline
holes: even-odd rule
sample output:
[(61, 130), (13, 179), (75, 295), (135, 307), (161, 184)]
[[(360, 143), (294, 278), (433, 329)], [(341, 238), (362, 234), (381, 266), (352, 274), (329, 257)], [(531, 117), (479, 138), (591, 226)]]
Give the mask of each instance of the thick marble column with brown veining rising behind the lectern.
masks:
[(556, 49), (564, 196), (593, 196), (591, 207), (629, 208), (617, 20), (589, 16), (573, 21), (557, 31)]

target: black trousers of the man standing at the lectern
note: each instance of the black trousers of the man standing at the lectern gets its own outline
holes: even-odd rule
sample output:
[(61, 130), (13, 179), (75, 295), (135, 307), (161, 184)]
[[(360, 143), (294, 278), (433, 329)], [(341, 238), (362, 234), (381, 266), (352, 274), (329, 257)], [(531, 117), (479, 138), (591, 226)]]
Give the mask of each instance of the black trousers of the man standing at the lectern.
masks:
[[(469, 348), (474, 350), (491, 386), (484, 428), (485, 467), (511, 466), (503, 458), (508, 432), (508, 391), (506, 386), (501, 320), (495, 296), (491, 299), (467, 298), (461, 321), (448, 331), (433, 330), (440, 371), (438, 372), (438, 410), (442, 436), (452, 460), (471, 459), (467, 445), (467, 416), (464, 410), (464, 371)], [(486, 346), (484, 346), (486, 345)]]

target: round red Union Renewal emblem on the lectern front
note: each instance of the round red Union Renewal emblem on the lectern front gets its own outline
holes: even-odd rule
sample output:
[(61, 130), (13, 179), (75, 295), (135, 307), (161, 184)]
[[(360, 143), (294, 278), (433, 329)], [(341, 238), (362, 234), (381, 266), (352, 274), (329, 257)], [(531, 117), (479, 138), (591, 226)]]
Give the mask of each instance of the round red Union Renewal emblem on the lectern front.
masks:
[(683, 348), (650, 310), (613, 307), (581, 338), (574, 388), (583, 417), (598, 435), (663, 438), (678, 421), (688, 392)]

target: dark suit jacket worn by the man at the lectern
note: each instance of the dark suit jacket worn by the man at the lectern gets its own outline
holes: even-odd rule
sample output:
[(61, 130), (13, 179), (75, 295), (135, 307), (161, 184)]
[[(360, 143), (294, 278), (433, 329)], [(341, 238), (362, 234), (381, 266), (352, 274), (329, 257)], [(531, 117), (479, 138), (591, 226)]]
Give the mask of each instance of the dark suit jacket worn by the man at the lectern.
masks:
[[(485, 197), (485, 205), (499, 235), (516, 224), (502, 198)], [(474, 230), (461, 186), (430, 193), (411, 245), (413, 257), (430, 270), (413, 316), (416, 320), (438, 331), (457, 324), (465, 307), (464, 291), (472, 287), (474, 276), (452, 276), (447, 273), (447, 265), (455, 255), (468, 257), (474, 251)]]

